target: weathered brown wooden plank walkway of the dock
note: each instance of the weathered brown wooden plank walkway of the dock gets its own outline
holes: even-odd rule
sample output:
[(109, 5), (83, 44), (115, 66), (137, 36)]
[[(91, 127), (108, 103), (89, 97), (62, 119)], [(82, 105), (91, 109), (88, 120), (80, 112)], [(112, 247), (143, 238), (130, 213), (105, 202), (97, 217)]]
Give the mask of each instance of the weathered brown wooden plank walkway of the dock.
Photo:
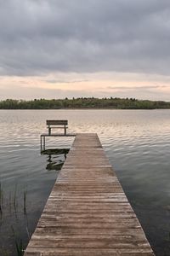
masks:
[(24, 255), (154, 255), (97, 134), (75, 138)]

